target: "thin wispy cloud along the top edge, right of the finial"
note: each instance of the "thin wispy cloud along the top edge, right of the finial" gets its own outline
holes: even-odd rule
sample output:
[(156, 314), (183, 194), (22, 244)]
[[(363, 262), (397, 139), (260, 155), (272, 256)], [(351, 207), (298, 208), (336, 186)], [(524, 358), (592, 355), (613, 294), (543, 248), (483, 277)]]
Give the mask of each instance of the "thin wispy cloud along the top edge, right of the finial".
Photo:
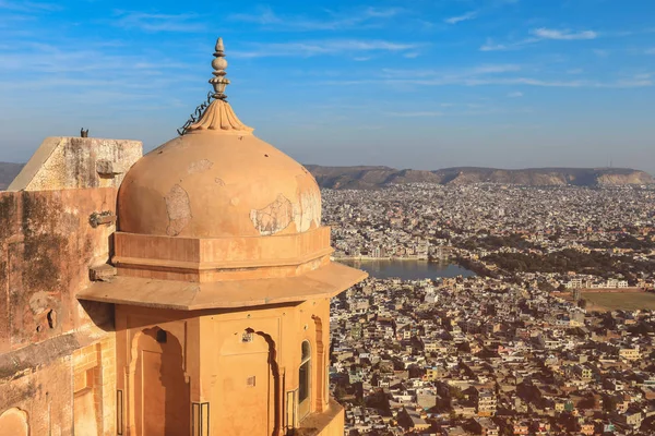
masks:
[(400, 8), (366, 8), (355, 12), (334, 13), (327, 11), (323, 19), (312, 19), (303, 15), (278, 15), (270, 7), (260, 8), (257, 13), (238, 13), (228, 16), (229, 20), (259, 24), (272, 31), (338, 31), (362, 25), (372, 25), (402, 12)]

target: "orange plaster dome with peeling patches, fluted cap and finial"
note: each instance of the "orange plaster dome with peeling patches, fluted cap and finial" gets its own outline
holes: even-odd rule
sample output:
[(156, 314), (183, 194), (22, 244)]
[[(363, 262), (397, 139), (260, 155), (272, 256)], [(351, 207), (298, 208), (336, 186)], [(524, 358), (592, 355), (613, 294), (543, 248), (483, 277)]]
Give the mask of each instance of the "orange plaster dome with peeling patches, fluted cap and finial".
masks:
[[(221, 59), (221, 40), (216, 51)], [(313, 177), (239, 121), (223, 94), (229, 83), (225, 71), (214, 76), (210, 83), (215, 99), (200, 120), (143, 156), (126, 174), (118, 194), (119, 230), (229, 238), (318, 228), (321, 194)]]

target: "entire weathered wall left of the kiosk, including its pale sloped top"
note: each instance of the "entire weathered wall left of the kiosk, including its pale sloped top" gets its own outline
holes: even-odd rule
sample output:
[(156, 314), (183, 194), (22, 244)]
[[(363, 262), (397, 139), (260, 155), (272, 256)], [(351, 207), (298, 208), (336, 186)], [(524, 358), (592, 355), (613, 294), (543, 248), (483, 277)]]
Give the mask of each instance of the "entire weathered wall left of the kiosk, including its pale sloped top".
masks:
[(0, 436), (116, 434), (114, 307), (75, 295), (109, 261), (141, 155), (138, 141), (48, 137), (0, 193)]

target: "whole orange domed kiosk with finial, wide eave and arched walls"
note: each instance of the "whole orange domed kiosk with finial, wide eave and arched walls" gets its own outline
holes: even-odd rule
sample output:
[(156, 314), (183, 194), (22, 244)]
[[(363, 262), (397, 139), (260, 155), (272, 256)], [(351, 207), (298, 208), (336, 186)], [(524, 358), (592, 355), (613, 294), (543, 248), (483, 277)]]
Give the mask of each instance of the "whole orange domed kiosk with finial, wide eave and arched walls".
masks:
[(331, 262), (315, 180), (237, 118), (214, 57), (207, 102), (122, 181), (117, 276), (79, 295), (115, 305), (118, 434), (341, 436), (330, 298), (366, 274)]

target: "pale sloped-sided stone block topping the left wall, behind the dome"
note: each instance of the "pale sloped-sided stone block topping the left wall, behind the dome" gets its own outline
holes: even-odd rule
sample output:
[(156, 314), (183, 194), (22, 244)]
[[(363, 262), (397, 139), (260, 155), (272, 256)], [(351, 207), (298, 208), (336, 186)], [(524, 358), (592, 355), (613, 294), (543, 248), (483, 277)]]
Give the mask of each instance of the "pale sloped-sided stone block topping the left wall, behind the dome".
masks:
[(142, 154), (140, 141), (47, 137), (8, 191), (118, 187)]

